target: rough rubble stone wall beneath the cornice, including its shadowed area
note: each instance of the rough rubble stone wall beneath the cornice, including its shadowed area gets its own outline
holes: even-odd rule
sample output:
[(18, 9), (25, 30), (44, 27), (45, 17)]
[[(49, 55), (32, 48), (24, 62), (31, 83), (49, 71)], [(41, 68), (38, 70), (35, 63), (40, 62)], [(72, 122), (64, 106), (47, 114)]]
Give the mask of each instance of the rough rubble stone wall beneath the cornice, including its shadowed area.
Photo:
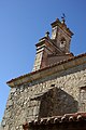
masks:
[(80, 88), (86, 86), (86, 64), (11, 89), (2, 126), (23, 130), (23, 123), (80, 110)]

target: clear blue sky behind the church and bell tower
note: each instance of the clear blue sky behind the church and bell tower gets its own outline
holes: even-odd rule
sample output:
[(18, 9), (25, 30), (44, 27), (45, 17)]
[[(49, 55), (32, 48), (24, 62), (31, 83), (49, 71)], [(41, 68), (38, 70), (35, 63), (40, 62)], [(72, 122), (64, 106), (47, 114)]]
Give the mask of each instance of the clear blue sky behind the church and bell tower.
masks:
[(10, 87), (6, 81), (32, 70), (35, 43), (51, 23), (66, 14), (74, 32), (71, 52), (86, 52), (86, 0), (0, 0), (0, 121)]

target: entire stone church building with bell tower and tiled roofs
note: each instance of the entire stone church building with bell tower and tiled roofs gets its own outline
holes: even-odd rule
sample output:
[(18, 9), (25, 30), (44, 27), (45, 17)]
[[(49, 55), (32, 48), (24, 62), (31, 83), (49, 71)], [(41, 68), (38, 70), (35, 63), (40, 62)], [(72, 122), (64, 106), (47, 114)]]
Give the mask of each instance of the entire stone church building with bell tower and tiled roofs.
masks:
[(31, 73), (11, 87), (3, 130), (86, 130), (86, 53), (70, 52), (73, 32), (64, 17), (35, 44)]

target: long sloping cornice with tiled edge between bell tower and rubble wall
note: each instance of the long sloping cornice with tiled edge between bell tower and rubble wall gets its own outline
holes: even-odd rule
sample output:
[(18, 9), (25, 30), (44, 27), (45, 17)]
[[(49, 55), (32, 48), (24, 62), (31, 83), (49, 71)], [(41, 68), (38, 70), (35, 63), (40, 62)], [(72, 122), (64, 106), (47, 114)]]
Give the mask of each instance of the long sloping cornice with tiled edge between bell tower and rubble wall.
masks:
[(34, 80), (39, 80), (39, 79), (45, 78), (47, 76), (52, 76), (52, 75), (59, 73), (61, 70), (66, 70), (66, 69), (75, 67), (77, 65), (85, 64), (85, 63), (86, 63), (86, 53), (80, 54), (80, 55), (71, 57), (69, 60), (64, 60), (64, 61), (55, 63), (51, 66), (39, 69), (37, 72), (31, 72), (31, 73), (26, 74), (24, 76), (12, 79), (12, 80), (8, 81), (6, 83), (11, 88), (14, 88), (16, 86), (20, 86), (20, 84), (27, 83), (27, 82), (32, 82)]

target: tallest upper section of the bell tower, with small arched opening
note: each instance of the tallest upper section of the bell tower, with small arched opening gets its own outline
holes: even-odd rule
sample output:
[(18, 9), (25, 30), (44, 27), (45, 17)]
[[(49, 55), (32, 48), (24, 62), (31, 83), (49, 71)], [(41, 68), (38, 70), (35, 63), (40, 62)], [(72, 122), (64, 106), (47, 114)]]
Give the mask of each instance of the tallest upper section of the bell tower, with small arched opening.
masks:
[(61, 22), (57, 18), (52, 23), (52, 40), (62, 53), (70, 53), (70, 42), (73, 32), (67, 27), (64, 22), (64, 17), (62, 17)]

